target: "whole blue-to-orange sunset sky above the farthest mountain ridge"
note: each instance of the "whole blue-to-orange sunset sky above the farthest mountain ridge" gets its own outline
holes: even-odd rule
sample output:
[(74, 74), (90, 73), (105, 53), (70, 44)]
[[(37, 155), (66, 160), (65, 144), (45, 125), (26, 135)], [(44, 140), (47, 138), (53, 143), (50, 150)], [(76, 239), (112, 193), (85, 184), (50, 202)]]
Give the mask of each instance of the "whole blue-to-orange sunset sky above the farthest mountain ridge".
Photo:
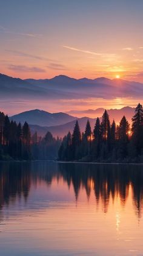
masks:
[(0, 4), (0, 73), (143, 82), (142, 0)]

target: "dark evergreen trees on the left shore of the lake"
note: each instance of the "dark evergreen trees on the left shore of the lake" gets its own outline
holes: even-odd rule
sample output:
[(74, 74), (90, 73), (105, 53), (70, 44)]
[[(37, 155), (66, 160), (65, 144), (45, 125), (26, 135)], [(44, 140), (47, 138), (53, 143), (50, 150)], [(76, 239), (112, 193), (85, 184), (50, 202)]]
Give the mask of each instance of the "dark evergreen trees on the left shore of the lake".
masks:
[(58, 157), (61, 139), (47, 132), (44, 138), (33, 135), (27, 122), (22, 126), (0, 112), (0, 160), (53, 160)]

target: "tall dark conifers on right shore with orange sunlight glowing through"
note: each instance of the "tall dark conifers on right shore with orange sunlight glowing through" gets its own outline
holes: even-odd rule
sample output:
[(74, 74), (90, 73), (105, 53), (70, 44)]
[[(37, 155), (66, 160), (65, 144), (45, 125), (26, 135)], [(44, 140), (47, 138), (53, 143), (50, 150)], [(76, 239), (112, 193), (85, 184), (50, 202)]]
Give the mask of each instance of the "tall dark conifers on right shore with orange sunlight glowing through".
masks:
[(132, 124), (125, 116), (119, 125), (105, 110), (100, 121), (96, 119), (93, 132), (87, 120), (85, 132), (81, 134), (78, 120), (73, 133), (68, 132), (62, 140), (58, 158), (62, 161), (81, 162), (143, 162), (143, 108), (135, 108)]

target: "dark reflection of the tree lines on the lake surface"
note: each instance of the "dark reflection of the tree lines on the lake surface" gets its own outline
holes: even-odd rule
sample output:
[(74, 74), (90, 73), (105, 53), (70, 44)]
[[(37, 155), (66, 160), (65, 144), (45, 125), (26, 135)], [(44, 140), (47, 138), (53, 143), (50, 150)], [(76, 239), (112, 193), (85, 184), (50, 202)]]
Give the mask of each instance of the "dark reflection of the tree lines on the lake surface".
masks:
[[(0, 218), (4, 206), (24, 200), (27, 204), (32, 187), (44, 182), (47, 187), (56, 180), (64, 182), (67, 190), (73, 188), (75, 202), (85, 191), (87, 202), (91, 191), (95, 194), (96, 207), (102, 202), (102, 211), (108, 212), (110, 199), (115, 198), (125, 207), (131, 190), (135, 214), (141, 218), (143, 199), (143, 170), (139, 165), (90, 165), (53, 162), (1, 163), (0, 165)], [(56, 200), (56, 199), (55, 199)], [(57, 199), (58, 200), (58, 199)], [(116, 213), (116, 229), (120, 216)]]

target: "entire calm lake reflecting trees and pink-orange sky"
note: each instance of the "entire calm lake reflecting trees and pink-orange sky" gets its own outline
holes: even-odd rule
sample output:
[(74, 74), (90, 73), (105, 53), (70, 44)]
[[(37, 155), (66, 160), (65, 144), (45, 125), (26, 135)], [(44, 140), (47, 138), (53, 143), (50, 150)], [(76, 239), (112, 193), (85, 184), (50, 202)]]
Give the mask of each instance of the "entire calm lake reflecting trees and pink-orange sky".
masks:
[(0, 163), (0, 255), (143, 255), (143, 166)]

